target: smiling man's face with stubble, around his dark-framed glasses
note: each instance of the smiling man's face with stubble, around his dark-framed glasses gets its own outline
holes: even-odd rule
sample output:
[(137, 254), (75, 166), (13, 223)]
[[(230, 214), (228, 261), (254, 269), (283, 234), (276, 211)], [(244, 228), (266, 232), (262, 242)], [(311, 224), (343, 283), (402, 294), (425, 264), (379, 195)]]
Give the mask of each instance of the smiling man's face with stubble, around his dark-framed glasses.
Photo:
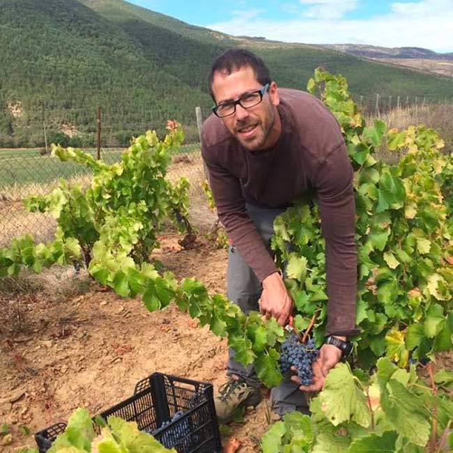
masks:
[[(213, 94), (217, 105), (238, 100), (242, 95), (262, 88), (249, 66), (226, 74), (215, 72)], [(277, 112), (279, 97), (277, 85), (272, 82), (263, 100), (254, 107), (244, 109), (236, 105), (236, 112), (222, 121), (231, 134), (249, 151), (270, 148), (277, 143), (281, 123)]]

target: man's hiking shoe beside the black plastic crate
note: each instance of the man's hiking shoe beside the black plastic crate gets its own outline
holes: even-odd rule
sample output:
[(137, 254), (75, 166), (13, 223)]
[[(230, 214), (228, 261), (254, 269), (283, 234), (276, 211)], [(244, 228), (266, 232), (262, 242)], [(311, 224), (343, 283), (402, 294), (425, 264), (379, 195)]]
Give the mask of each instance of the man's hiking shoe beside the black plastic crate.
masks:
[(219, 388), (215, 398), (215, 412), (221, 424), (233, 421), (241, 408), (256, 406), (261, 401), (259, 388), (247, 385), (240, 379), (229, 379)]

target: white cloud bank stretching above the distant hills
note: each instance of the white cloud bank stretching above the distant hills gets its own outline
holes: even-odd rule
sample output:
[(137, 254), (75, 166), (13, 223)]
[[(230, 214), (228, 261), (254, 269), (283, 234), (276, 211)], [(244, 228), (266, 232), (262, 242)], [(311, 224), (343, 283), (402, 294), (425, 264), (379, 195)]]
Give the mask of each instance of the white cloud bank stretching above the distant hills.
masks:
[[(325, 0), (327, 3), (332, 6), (335, 2)], [(321, 0), (316, 5), (314, 0), (309, 4), (317, 7)], [(270, 40), (293, 43), (360, 43), (453, 52), (452, 24), (452, 0), (420, 0), (393, 3), (390, 13), (363, 20), (333, 20), (329, 17), (267, 20), (261, 18), (257, 10), (248, 10), (236, 11), (227, 22), (204, 26), (236, 36), (266, 36)]]

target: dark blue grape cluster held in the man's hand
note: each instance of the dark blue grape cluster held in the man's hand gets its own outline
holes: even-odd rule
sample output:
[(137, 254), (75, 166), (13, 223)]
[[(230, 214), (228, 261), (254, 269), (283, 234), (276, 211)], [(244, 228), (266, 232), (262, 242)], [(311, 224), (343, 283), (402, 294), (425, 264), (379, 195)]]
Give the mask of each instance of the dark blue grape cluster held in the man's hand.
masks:
[(294, 365), (298, 369), (298, 376), (302, 385), (310, 385), (313, 379), (312, 363), (318, 357), (318, 349), (314, 339), (301, 343), (295, 333), (287, 337), (280, 351), (280, 371), (286, 373)]

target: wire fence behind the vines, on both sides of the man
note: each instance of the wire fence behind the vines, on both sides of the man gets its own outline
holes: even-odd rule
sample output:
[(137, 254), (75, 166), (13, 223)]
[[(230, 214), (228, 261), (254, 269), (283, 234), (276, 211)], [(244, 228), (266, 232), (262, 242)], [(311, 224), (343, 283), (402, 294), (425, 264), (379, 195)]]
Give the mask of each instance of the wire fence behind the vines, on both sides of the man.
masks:
[[(418, 99), (417, 99), (418, 100)], [(392, 96), (376, 95), (374, 102), (364, 98), (356, 100), (362, 105), (367, 121), (383, 118), (390, 128), (407, 128), (410, 124), (424, 123), (440, 132), (447, 144), (447, 152), (453, 152), (453, 102), (429, 103), (426, 98), (413, 103), (415, 99), (408, 97), (392, 98)], [(143, 125), (130, 125), (130, 134), (145, 132)], [(197, 122), (186, 126), (190, 130), (201, 127), (201, 111), (197, 109)], [(107, 163), (118, 162), (124, 147), (109, 146), (107, 132), (109, 125), (102, 124), (104, 135), (100, 135), (99, 149), (82, 148), (100, 157)], [(197, 134), (198, 135), (198, 134)], [(194, 137), (193, 133), (190, 137)], [(46, 151), (47, 148), (47, 151)], [(99, 154), (98, 154), (99, 153)], [(385, 155), (382, 156), (385, 158)], [(54, 189), (60, 178), (70, 184), (87, 187), (91, 181), (89, 170), (70, 162), (61, 162), (53, 157), (45, 148), (1, 149), (0, 148), (0, 247), (5, 247), (15, 236), (29, 233), (37, 241), (50, 240), (55, 231), (55, 221), (47, 213), (29, 213), (23, 200), (31, 195), (44, 195)], [(185, 176), (190, 181), (190, 212), (195, 226), (208, 227), (215, 220), (206, 206), (206, 198), (200, 184), (205, 179), (203, 161), (201, 159), (199, 141), (184, 144), (179, 153), (173, 156), (168, 173), (175, 181)]]

